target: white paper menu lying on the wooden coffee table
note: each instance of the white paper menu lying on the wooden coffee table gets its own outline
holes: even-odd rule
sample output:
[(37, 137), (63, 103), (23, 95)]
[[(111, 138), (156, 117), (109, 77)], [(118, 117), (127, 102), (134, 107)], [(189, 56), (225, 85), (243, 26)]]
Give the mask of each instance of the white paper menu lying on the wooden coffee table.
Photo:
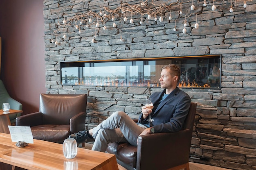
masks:
[(30, 126), (8, 126), (11, 133), (11, 141), (24, 141), (29, 144), (34, 144), (33, 135)]

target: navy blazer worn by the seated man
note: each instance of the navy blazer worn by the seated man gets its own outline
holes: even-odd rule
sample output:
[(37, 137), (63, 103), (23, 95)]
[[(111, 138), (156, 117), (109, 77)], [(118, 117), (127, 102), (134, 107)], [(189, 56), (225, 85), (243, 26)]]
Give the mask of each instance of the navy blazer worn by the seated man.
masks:
[[(161, 100), (164, 94), (165, 89), (163, 92), (155, 92), (150, 96), (154, 106)], [(155, 133), (180, 131), (182, 129), (182, 124), (189, 113), (190, 102), (191, 99), (189, 95), (178, 87), (168, 94), (158, 107), (154, 107), (152, 110), (151, 118), (154, 119), (154, 121), (151, 123), (151, 126), (154, 127)], [(139, 116), (139, 123), (148, 124), (146, 119), (143, 119), (141, 113)]]

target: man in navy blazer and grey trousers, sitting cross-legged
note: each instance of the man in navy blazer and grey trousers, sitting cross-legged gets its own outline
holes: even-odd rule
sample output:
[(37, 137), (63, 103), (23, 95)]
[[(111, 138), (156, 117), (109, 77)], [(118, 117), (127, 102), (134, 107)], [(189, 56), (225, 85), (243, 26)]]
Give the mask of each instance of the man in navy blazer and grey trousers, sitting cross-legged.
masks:
[[(78, 143), (95, 139), (92, 150), (105, 152), (109, 143), (125, 142), (137, 146), (140, 135), (180, 131), (191, 102), (189, 95), (177, 87), (180, 74), (180, 68), (174, 64), (161, 69), (159, 81), (164, 90), (150, 96), (154, 108), (151, 110), (146, 106), (142, 107), (138, 123), (123, 111), (116, 111), (93, 129), (74, 133), (69, 137), (76, 139)], [(153, 122), (147, 121), (149, 114)]]

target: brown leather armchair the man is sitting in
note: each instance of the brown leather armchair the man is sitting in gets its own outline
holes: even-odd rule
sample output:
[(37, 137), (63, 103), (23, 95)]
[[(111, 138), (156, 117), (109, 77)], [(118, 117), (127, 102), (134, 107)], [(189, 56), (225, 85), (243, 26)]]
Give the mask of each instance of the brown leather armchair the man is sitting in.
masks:
[(196, 103), (191, 103), (182, 130), (139, 136), (138, 146), (110, 143), (106, 152), (128, 170), (189, 170), (189, 151), (195, 120)]

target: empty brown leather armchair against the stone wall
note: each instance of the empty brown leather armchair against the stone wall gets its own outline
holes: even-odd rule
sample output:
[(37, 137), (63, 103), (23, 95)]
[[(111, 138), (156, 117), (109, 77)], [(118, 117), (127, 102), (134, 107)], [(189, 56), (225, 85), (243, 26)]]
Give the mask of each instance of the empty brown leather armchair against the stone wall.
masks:
[(63, 143), (85, 130), (87, 94), (40, 94), (39, 112), (16, 118), (16, 126), (30, 126), (34, 139)]

